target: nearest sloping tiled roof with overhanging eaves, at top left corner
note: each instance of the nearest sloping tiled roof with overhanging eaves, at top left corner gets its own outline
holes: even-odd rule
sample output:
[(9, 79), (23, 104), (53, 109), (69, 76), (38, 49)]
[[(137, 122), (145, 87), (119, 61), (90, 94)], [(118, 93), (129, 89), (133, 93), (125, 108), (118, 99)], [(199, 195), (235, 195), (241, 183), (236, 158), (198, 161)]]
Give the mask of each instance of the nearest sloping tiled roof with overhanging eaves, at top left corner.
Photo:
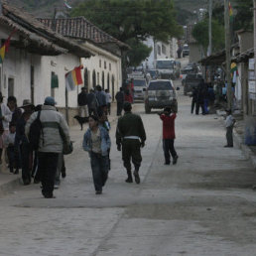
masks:
[(22, 45), (22, 41), (18, 42), (20, 47), (28, 49), (31, 53), (38, 51), (36, 53), (42, 55), (60, 55), (67, 52), (78, 57), (93, 55), (87, 49), (76, 44), (75, 41), (67, 40), (63, 35), (44, 26), (24, 10), (11, 6), (6, 0), (1, 0), (1, 2), (3, 13), (0, 15), (0, 23), (16, 29), (21, 37), (28, 42), (25, 45)]

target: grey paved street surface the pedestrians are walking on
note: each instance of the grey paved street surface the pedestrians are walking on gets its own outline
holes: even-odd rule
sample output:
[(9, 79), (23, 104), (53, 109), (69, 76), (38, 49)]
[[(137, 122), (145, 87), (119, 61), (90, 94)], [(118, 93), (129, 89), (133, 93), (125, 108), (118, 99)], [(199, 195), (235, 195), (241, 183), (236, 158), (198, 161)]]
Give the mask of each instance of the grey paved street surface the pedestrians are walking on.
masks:
[(219, 117), (191, 115), (180, 94), (177, 166), (163, 165), (159, 117), (136, 104), (148, 136), (142, 184), (124, 183), (113, 123), (112, 170), (95, 195), (77, 128), (57, 198), (43, 198), (39, 185), (0, 198), (0, 255), (255, 255), (256, 173), (239, 149), (223, 148)]

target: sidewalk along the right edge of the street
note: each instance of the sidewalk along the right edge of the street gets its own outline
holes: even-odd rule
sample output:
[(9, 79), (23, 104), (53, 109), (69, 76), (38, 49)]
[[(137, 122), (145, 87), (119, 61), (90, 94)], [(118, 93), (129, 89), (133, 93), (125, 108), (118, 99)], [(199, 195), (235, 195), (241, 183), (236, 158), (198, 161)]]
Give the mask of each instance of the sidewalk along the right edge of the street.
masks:
[[(217, 115), (222, 117), (225, 111), (217, 110)], [(221, 120), (224, 125), (224, 119)], [(254, 169), (256, 169), (256, 146), (247, 146), (244, 144), (244, 121), (237, 120), (235, 128), (233, 130), (234, 143), (240, 148), (246, 158), (252, 163)]]

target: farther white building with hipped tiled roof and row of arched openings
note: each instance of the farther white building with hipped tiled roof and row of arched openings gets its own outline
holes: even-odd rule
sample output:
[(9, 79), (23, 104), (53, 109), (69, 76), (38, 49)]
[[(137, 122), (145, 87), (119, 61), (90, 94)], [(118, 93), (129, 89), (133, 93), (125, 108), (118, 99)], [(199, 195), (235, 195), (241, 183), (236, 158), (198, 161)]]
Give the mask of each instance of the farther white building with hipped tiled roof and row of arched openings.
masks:
[(103, 32), (84, 17), (39, 19), (48, 27), (56, 31), (93, 53), (90, 59), (81, 59), (84, 66), (84, 85), (87, 89), (99, 84), (109, 89), (114, 99), (115, 93), (122, 84), (122, 51), (129, 47)]

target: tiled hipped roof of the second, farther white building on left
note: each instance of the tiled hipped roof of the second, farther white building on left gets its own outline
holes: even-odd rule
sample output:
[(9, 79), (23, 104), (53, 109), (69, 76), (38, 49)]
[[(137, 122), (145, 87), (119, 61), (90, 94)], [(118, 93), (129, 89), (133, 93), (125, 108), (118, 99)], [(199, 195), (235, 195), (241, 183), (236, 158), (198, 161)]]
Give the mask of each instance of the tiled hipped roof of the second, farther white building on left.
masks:
[(39, 18), (38, 20), (50, 28), (55, 26), (56, 32), (62, 34), (64, 37), (88, 40), (96, 44), (114, 43), (119, 48), (129, 48), (126, 44), (100, 30), (84, 17), (56, 19), (55, 25), (53, 25), (54, 19)]

